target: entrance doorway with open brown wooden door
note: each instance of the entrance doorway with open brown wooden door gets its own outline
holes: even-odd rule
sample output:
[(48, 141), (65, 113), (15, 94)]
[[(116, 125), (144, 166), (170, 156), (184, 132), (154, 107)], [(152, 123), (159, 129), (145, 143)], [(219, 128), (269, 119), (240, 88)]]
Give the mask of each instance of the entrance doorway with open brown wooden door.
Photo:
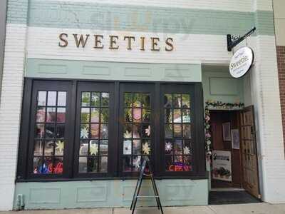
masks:
[(212, 136), (210, 203), (259, 202), (253, 106), (236, 111), (212, 110), (209, 114)]

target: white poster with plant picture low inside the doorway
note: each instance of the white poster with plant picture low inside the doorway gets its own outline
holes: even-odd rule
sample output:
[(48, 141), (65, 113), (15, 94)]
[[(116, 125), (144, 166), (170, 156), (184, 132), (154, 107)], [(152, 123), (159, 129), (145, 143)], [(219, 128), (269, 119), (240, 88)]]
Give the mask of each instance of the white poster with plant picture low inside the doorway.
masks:
[(232, 181), (232, 159), (230, 151), (213, 151), (213, 179)]

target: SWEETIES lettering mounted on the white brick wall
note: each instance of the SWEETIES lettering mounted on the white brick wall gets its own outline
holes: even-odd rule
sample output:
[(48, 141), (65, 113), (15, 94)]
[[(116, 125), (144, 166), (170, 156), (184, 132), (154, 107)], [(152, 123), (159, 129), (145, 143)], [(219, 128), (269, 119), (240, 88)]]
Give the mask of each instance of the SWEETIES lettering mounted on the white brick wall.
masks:
[[(123, 40), (126, 49), (132, 50), (133, 46), (140, 51), (145, 51), (147, 48), (150, 51), (173, 51), (173, 39), (168, 37), (165, 41), (162, 41), (159, 37), (145, 36), (117, 36), (117, 35), (90, 35), (90, 34), (59, 34), (58, 46), (66, 47), (69, 43), (75, 43), (78, 48), (84, 48), (87, 43), (92, 42), (94, 49), (120, 49), (119, 42)], [(108, 45), (106, 45), (108, 44)], [(134, 45), (135, 44), (135, 45)]]

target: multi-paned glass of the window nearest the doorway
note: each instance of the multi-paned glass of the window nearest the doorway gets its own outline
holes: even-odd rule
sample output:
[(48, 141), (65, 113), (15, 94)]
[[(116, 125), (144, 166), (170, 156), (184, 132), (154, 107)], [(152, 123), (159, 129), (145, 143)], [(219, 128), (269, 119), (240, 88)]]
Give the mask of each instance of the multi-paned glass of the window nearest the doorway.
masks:
[(192, 170), (190, 94), (165, 93), (165, 170)]

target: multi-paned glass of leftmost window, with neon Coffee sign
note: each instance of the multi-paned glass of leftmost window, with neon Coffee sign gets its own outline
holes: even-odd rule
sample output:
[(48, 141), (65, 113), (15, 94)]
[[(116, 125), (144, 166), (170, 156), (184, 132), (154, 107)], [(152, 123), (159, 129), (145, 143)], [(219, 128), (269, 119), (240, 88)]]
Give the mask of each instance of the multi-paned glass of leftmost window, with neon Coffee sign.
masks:
[(66, 91), (38, 91), (33, 173), (63, 173)]

